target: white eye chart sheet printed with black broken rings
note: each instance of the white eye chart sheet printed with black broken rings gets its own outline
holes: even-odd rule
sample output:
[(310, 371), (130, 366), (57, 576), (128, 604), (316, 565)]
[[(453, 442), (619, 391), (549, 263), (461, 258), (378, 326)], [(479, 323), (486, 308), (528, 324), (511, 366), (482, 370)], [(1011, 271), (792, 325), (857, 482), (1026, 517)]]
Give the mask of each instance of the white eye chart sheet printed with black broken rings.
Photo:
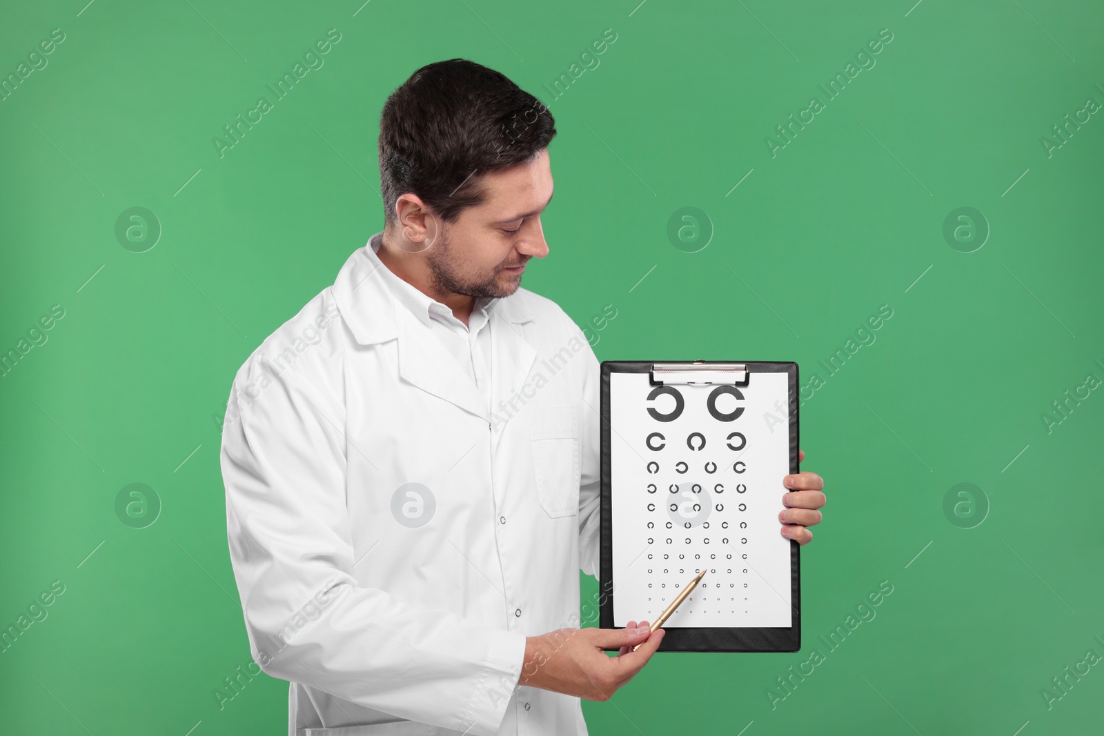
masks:
[[(731, 416), (743, 407), (728, 420), (708, 409), (716, 385), (670, 387), (683, 406), (662, 422), (648, 409), (672, 415), (673, 396), (649, 401), (655, 386), (647, 373), (609, 375), (614, 626), (654, 621), (702, 567), (705, 577), (665, 627), (793, 626), (790, 543), (778, 521), (788, 490), (782, 479), (789, 472), (787, 374), (753, 373), (747, 386), (737, 387), (742, 401), (718, 393), (716, 413)], [(730, 439), (732, 433), (744, 440)], [(650, 449), (649, 437), (662, 448)], [(715, 470), (708, 472), (707, 463)]]

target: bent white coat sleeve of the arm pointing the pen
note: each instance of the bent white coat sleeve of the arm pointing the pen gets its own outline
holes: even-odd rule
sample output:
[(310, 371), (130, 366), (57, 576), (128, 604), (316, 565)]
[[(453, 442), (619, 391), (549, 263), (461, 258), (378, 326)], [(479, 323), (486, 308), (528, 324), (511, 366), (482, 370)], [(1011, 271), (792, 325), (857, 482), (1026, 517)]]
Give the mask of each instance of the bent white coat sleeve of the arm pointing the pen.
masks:
[(254, 658), (358, 705), (495, 734), (526, 637), (358, 585), (340, 361), (299, 361), (305, 372), (259, 354), (243, 365), (223, 428), (230, 554)]

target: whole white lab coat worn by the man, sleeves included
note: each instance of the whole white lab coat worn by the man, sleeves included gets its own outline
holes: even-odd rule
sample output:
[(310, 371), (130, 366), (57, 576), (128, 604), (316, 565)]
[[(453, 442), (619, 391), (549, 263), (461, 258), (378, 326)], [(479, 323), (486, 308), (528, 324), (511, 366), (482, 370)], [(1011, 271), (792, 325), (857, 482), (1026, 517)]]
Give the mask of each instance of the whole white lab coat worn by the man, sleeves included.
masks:
[(291, 736), (585, 734), (577, 697), (517, 683), (526, 637), (578, 626), (598, 564), (597, 360), (554, 302), (499, 299), (488, 416), (380, 267), (353, 253), (234, 380), (253, 657), (290, 681)]

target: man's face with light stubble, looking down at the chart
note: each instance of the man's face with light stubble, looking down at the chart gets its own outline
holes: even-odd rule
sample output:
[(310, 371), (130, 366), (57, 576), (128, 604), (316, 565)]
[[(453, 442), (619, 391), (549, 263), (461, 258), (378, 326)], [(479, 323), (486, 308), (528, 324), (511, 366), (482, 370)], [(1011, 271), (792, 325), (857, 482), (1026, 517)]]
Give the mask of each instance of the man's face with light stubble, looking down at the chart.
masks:
[(426, 252), (442, 292), (508, 297), (521, 286), (528, 260), (549, 253), (540, 217), (552, 200), (548, 149), (529, 163), (484, 174), (482, 184), (484, 203), (464, 210)]

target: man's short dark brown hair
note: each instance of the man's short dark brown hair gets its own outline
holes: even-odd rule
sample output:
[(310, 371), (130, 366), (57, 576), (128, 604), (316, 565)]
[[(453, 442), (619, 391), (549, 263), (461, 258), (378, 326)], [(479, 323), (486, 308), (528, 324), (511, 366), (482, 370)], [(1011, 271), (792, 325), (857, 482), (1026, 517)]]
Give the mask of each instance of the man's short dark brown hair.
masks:
[(466, 58), (423, 66), (380, 114), (385, 223), (406, 192), (455, 222), (484, 201), (482, 174), (532, 160), (554, 136), (548, 107), (495, 70)]

